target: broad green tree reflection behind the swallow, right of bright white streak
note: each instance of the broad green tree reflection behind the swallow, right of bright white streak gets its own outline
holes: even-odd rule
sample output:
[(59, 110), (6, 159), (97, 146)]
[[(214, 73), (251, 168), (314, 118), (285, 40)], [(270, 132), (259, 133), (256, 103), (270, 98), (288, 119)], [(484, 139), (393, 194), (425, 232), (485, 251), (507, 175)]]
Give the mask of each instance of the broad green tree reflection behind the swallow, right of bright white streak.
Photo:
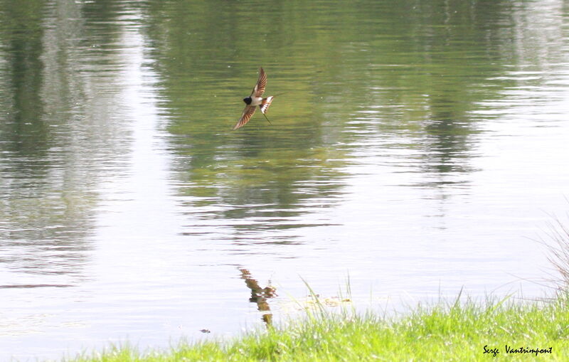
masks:
[[(481, 120), (473, 112), (513, 85), (498, 75), (519, 61), (516, 46), (532, 46), (513, 43), (531, 1), (264, 4), (149, 4), (150, 54), (188, 205), (223, 205), (203, 217), (267, 218), (270, 228), (270, 217), (334, 205), (345, 166), (366, 163), (353, 154), (394, 148), (414, 150), (415, 172), (435, 180), (420, 186), (468, 183)], [(285, 92), (270, 110), (275, 126), (255, 115), (230, 132), (260, 65), (266, 95)]]

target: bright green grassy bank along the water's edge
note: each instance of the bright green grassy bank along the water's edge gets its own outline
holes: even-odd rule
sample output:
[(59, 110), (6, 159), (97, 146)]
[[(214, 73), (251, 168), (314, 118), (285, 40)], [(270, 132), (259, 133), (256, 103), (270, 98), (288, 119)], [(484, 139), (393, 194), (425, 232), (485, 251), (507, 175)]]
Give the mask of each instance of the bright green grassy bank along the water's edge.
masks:
[(569, 361), (568, 307), (563, 294), (551, 302), (418, 307), (390, 319), (318, 310), (223, 344), (144, 354), (117, 348), (73, 361)]

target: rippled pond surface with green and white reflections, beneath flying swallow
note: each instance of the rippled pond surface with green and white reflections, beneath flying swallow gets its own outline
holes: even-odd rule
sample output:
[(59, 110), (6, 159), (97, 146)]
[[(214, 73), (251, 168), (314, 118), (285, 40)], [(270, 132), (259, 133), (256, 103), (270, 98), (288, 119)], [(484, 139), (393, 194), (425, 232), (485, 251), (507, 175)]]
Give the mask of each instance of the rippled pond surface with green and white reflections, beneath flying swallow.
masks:
[(566, 1), (0, 4), (0, 360), (548, 291)]

